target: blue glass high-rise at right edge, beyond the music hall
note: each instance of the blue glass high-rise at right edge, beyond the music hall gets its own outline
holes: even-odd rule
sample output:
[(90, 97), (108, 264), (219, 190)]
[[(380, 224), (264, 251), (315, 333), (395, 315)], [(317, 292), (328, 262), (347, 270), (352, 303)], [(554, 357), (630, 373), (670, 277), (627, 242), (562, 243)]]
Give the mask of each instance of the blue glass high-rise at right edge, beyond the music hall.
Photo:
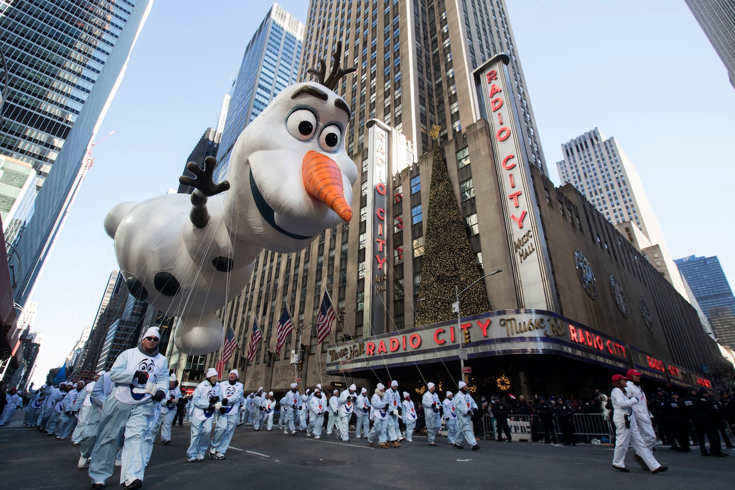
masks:
[(717, 342), (735, 349), (735, 297), (717, 256), (675, 260), (692, 295), (709, 320)]

